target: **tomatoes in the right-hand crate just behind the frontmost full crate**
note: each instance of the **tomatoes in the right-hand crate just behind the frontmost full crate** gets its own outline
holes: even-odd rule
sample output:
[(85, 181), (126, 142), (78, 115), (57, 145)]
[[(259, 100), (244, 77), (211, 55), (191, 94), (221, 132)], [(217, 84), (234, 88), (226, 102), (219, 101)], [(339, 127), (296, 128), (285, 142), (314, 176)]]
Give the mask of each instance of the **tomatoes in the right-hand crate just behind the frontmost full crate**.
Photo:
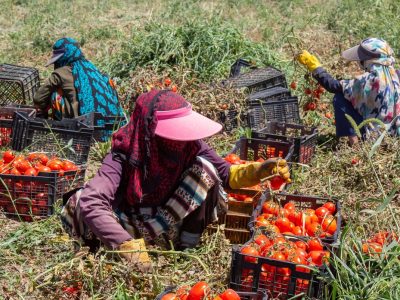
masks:
[(293, 202), (280, 207), (271, 200), (263, 204), (262, 214), (256, 218), (255, 226), (275, 233), (326, 238), (333, 236), (337, 230), (335, 212), (333, 202), (326, 202), (315, 210), (300, 210)]

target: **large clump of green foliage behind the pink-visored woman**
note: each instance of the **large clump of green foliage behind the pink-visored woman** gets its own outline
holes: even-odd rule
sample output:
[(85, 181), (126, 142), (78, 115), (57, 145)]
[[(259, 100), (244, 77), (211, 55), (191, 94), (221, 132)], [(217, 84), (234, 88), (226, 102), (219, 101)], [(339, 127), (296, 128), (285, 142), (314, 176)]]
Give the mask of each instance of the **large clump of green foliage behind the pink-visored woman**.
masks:
[(277, 55), (268, 46), (250, 41), (219, 19), (181, 25), (149, 22), (135, 30), (121, 51), (106, 60), (105, 68), (114, 76), (125, 77), (139, 66), (158, 70), (179, 66), (209, 80), (226, 77), (231, 64), (241, 57), (257, 64), (279, 65)]

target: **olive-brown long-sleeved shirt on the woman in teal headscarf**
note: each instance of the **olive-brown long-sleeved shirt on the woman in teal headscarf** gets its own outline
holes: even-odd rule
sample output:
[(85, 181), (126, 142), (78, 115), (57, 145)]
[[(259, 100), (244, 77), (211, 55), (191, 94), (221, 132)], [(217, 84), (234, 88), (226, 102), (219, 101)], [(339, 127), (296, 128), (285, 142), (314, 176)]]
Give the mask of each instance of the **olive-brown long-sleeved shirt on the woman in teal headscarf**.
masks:
[(71, 66), (57, 68), (46, 79), (43, 85), (33, 96), (33, 103), (42, 111), (46, 111), (52, 105), (51, 96), (54, 92), (61, 92), (65, 100), (63, 117), (76, 118), (79, 116), (79, 101), (74, 85)]

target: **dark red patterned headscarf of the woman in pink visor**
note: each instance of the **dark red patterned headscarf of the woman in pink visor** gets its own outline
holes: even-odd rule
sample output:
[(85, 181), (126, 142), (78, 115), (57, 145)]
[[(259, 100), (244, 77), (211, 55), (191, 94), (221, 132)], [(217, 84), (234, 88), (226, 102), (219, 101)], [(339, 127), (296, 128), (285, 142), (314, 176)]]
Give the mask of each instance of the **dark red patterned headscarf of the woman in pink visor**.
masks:
[(172, 141), (155, 135), (156, 111), (186, 105), (182, 96), (171, 91), (152, 90), (142, 94), (129, 123), (113, 135), (112, 152), (126, 156), (123, 176), (130, 205), (162, 205), (196, 158), (199, 151), (196, 141)]

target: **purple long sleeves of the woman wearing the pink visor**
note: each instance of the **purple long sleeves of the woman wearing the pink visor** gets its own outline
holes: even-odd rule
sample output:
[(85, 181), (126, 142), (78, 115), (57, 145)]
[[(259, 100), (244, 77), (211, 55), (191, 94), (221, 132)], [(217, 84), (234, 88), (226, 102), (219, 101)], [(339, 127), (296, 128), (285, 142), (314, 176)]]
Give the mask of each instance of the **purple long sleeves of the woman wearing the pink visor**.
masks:
[[(204, 157), (214, 165), (222, 185), (227, 187), (231, 165), (219, 157), (205, 142), (199, 143), (201, 147), (198, 156)], [(118, 156), (113, 157), (109, 153), (97, 175), (85, 185), (80, 197), (80, 211), (84, 222), (107, 247), (113, 249), (132, 238), (113, 214), (113, 210), (119, 207), (120, 201), (123, 201), (121, 197), (117, 197), (121, 177), (122, 161)]]

